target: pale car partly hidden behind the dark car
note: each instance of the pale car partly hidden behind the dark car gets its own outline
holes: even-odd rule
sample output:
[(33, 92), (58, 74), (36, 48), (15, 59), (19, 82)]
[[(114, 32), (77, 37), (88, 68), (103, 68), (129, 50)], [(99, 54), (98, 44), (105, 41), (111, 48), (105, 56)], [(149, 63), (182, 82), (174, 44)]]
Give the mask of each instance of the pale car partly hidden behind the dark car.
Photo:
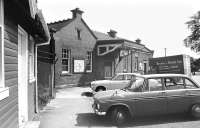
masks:
[(122, 89), (129, 85), (129, 82), (139, 73), (117, 73), (111, 80), (96, 80), (91, 82), (93, 91), (105, 91), (113, 89)]

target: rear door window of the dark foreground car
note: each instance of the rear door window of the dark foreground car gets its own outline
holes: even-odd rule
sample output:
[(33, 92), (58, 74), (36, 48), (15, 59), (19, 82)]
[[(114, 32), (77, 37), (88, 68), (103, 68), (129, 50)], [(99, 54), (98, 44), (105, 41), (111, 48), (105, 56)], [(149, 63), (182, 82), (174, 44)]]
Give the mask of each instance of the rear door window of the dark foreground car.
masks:
[(182, 77), (167, 77), (164, 78), (166, 90), (184, 89)]

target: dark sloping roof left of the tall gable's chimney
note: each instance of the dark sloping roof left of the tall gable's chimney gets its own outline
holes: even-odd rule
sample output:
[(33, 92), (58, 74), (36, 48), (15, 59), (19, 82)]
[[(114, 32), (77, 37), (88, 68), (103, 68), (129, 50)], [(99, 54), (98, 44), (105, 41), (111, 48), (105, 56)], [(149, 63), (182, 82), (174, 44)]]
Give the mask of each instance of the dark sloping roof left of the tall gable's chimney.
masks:
[(53, 29), (55, 29), (55, 31), (59, 31), (61, 28), (67, 26), (72, 21), (73, 21), (73, 19), (60, 20), (60, 21), (56, 21), (53, 23), (48, 23), (47, 25), (48, 25), (49, 29), (53, 28)]

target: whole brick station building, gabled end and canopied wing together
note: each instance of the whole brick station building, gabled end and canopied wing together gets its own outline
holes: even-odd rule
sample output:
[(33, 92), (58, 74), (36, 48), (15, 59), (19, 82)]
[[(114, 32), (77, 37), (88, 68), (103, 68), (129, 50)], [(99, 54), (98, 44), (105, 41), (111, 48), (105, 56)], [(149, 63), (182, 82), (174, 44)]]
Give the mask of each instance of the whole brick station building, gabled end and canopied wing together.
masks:
[(92, 31), (82, 18), (83, 11), (71, 10), (72, 19), (48, 24), (54, 29), (56, 85), (86, 85), (95, 79), (109, 79), (117, 72), (148, 72), (153, 56), (140, 40), (130, 41)]

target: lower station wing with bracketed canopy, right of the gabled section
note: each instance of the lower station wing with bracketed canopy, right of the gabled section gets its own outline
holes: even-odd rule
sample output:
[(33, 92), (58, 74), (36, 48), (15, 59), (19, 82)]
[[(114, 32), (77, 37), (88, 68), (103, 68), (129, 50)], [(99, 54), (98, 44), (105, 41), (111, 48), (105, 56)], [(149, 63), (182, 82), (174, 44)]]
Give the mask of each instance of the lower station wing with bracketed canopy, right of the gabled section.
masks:
[(119, 38), (114, 30), (107, 34), (94, 33), (98, 38), (94, 62), (96, 79), (110, 79), (120, 72), (148, 73), (148, 60), (153, 57), (153, 51), (143, 45), (140, 39), (130, 41)]

